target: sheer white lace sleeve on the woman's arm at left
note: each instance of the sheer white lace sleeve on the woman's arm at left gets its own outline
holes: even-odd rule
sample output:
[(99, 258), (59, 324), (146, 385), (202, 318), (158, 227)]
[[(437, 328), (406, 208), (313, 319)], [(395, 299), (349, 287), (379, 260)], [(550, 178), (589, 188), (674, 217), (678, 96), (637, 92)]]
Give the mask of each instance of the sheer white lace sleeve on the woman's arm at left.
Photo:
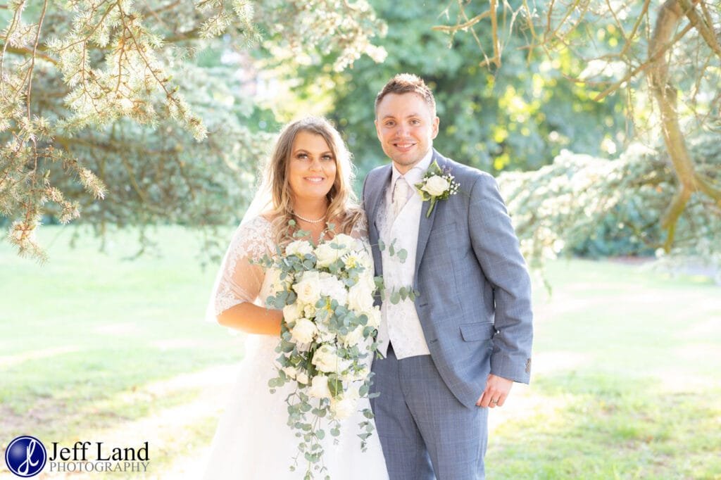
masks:
[(270, 238), (270, 223), (262, 217), (237, 228), (218, 271), (206, 320), (216, 321), (228, 308), (255, 301), (265, 272), (253, 261), (271, 253)]

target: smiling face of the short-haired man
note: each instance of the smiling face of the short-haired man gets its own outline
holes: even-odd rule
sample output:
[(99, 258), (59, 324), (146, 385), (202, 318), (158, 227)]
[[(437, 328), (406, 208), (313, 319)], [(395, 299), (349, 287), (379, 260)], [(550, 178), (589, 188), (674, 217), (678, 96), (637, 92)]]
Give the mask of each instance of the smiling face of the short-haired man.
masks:
[(419, 94), (387, 94), (376, 110), (376, 133), (383, 151), (404, 174), (433, 146), (438, 117)]

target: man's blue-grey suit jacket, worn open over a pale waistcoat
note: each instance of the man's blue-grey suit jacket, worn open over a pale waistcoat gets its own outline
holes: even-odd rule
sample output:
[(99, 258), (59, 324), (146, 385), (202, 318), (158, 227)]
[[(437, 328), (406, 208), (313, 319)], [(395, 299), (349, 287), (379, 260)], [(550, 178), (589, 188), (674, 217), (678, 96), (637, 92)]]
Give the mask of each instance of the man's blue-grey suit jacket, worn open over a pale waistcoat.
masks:
[[(423, 204), (415, 259), (420, 292), (415, 309), (443, 381), (473, 406), (489, 373), (528, 383), (531, 374), (531, 279), (495, 179), (446, 159), (460, 188), (438, 200), (430, 217)], [(363, 207), (376, 275), (383, 274), (376, 216), (391, 180), (391, 165), (373, 169), (363, 184)]]

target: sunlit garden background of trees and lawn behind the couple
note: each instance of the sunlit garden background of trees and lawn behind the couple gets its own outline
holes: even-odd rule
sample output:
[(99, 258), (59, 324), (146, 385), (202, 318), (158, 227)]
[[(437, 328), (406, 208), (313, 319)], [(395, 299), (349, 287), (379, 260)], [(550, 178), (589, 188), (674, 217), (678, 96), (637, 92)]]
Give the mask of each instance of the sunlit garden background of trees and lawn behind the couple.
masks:
[(0, 446), (148, 441), (149, 474), (103, 475), (198, 478), (244, 353), (203, 314), (274, 135), (326, 115), (360, 192), (388, 161), (373, 100), (408, 71), (534, 272), (531, 385), (490, 414), (489, 478), (721, 479), (719, 12), (0, 4)]

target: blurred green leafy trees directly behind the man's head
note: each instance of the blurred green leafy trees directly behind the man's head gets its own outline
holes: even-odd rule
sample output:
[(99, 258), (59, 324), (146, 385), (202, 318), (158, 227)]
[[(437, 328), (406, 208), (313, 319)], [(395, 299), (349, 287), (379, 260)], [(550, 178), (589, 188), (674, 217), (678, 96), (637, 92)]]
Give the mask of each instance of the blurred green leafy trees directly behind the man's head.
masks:
[[(340, 73), (325, 68), (323, 58), (292, 68), (291, 59), (275, 64), (278, 74), (297, 85), (294, 92), (301, 105), (304, 100), (318, 102), (311, 92), (325, 86), (323, 101), (331, 106), (327, 116), (345, 134), (361, 179), (386, 161), (373, 126), (373, 102), (386, 81), (401, 72), (422, 76), (434, 92), (441, 118), (434, 146), (492, 174), (538, 169), (563, 148), (608, 157), (601, 149), (604, 138), (614, 144), (612, 151), (626, 140), (619, 99), (593, 102), (588, 87), (563, 78), (583, 69), (578, 59), (564, 55), (553, 63), (544, 58), (527, 61), (525, 50), (518, 49), (526, 39), (517, 31), (505, 45), (503, 66), (489, 71), (478, 66), (482, 58), (471, 35), (451, 38), (431, 30), (446, 19), (439, 16), (443, 4), (370, 3), (388, 25), (386, 37), (376, 42), (388, 52), (384, 63), (363, 57)], [(490, 32), (481, 37), (487, 43)]]

